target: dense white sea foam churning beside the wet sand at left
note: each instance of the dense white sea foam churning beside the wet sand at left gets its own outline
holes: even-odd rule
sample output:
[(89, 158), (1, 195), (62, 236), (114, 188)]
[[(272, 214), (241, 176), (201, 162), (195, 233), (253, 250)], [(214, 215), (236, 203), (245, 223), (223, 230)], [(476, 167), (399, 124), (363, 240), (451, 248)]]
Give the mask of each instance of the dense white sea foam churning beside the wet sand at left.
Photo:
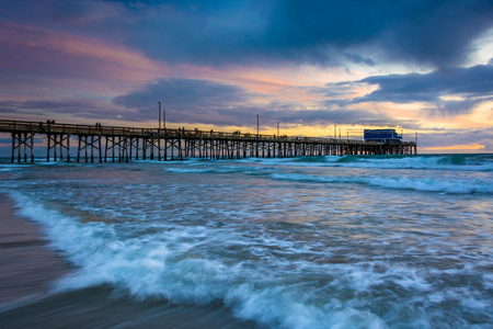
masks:
[[(20, 194), (12, 196), (21, 207), (20, 213), (43, 224), (53, 241), (51, 247), (60, 250), (77, 266), (73, 273), (57, 283), (55, 293), (111, 284), (138, 300), (162, 298), (196, 305), (221, 302), (239, 318), (270, 327), (386, 327), (377, 315), (352, 307), (349, 300), (317, 302), (319, 297), (310, 284), (293, 281), (298, 271), (303, 272), (308, 268), (320, 273), (329, 270), (340, 272), (336, 274), (343, 279), (340, 284), (351, 287), (359, 285), (360, 277), (370, 274), (363, 268), (364, 272), (355, 276), (353, 268), (330, 269), (307, 262), (288, 264), (279, 260), (277, 264), (275, 261), (268, 265), (259, 262), (254, 266), (249, 265), (251, 260), (227, 263), (205, 257), (197, 248), (204, 243), (219, 243), (220, 248), (238, 243), (242, 248), (256, 245), (256, 253), (262, 258), (268, 257), (270, 261), (273, 261), (270, 257), (272, 248), (278, 250), (278, 246), (283, 246), (288, 253), (289, 250), (298, 251), (291, 243), (273, 237), (265, 237), (263, 245), (264, 238), (251, 240), (231, 230), (218, 232), (205, 227), (167, 228), (162, 234), (118, 239), (113, 224), (82, 224)], [(270, 268), (273, 265), (279, 268), (272, 272)], [(320, 281), (320, 284), (328, 284), (323, 287), (326, 290), (337, 281), (325, 284)], [(364, 292), (375, 283), (378, 280), (359, 290)]]

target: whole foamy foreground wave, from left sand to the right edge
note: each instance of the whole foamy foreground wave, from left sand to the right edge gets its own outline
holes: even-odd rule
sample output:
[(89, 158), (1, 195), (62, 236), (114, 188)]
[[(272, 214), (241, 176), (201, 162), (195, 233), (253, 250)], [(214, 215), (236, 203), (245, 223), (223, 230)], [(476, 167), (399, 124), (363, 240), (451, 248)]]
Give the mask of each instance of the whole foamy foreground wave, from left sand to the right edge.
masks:
[(19, 193), (11, 195), (22, 215), (46, 228), (51, 247), (77, 265), (55, 292), (111, 285), (142, 302), (221, 303), (237, 317), (271, 328), (385, 328), (402, 325), (403, 318), (410, 327), (433, 327), (444, 321), (434, 300), (466, 313), (486, 310), (484, 305), (460, 305), (465, 294), (471, 300), (481, 296), (472, 287), (435, 286), (443, 271), (432, 273), (435, 280), (429, 271), (403, 262), (351, 262), (356, 257), (351, 252), (341, 254), (347, 261), (331, 262), (339, 247), (300, 243), (261, 225), (211, 228), (149, 222), (146, 234), (138, 235), (141, 223), (81, 222)]

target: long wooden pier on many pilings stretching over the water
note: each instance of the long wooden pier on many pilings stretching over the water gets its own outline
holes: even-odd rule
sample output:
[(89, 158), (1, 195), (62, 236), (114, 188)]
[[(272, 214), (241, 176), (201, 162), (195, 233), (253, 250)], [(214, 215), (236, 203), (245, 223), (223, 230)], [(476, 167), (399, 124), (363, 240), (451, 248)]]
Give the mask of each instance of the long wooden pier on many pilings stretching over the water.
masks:
[[(35, 137), (46, 141), (46, 160), (128, 162), (138, 160), (289, 158), (300, 156), (413, 155), (416, 143), (289, 137), (197, 129), (136, 128), (0, 120), (12, 136), (12, 162), (34, 162)], [(73, 146), (76, 141), (76, 146)]]

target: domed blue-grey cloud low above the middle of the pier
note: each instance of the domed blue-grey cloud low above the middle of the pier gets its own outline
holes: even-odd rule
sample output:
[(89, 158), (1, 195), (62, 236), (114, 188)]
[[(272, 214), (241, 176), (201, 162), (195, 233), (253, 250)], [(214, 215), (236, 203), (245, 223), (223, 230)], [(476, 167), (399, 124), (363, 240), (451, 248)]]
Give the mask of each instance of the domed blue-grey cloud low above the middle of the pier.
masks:
[(397, 124), (385, 114), (331, 110), (323, 104), (319, 110), (307, 110), (293, 102), (271, 102), (260, 107), (254, 103), (259, 97), (241, 88), (213, 81), (161, 79), (139, 91), (115, 98), (113, 104), (129, 110), (123, 117), (127, 121), (154, 120), (157, 100), (161, 100), (167, 120), (172, 123), (254, 126), (259, 114), (263, 127), (274, 127), (278, 121), (290, 125)]

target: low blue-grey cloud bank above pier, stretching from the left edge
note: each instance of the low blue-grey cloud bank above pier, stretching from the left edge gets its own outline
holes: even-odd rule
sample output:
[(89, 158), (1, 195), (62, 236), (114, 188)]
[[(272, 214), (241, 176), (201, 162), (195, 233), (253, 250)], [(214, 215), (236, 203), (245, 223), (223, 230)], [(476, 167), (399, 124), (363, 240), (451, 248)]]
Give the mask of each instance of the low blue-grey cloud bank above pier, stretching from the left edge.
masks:
[(263, 94), (248, 92), (236, 86), (176, 78), (145, 84), (139, 90), (114, 98), (111, 104), (104, 100), (90, 99), (0, 101), (0, 113), (5, 117), (35, 121), (58, 116), (87, 123), (121, 121), (139, 124), (157, 120), (158, 102), (167, 111), (168, 124), (254, 126), (256, 115), (260, 115), (263, 127), (274, 127), (277, 122), (291, 126), (337, 124), (415, 127), (412, 122), (397, 122), (389, 115), (363, 109), (343, 109), (325, 102), (320, 102), (316, 109), (308, 109), (303, 103), (272, 101)]

